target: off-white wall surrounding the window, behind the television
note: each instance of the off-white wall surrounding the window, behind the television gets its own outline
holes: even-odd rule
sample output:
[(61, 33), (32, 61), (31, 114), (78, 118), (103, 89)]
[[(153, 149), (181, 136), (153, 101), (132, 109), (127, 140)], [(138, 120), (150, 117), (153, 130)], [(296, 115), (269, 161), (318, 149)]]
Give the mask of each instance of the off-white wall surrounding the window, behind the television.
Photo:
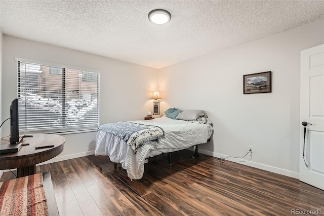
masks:
[[(4, 35), (3, 41), (3, 119), (10, 115), (11, 101), (17, 97), (15, 57), (99, 70), (100, 124), (142, 120), (148, 111), (152, 112), (150, 97), (157, 89), (157, 69), (8, 35)], [(9, 135), (9, 124), (3, 127), (3, 134)], [(94, 154), (96, 132), (63, 136), (64, 151), (49, 162)]]

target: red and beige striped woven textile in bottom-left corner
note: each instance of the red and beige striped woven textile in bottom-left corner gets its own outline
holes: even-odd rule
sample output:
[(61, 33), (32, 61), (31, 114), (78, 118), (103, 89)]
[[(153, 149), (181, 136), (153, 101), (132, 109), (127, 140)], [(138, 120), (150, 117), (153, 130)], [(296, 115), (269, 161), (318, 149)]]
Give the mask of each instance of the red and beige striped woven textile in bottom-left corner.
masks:
[(49, 215), (43, 173), (0, 182), (0, 215)]

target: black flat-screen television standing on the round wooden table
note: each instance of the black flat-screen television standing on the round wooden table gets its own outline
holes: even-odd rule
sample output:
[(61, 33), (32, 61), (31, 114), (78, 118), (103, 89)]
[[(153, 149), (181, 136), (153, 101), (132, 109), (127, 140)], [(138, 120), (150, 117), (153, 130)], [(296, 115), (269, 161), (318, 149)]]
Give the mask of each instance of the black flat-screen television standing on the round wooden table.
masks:
[(18, 99), (14, 99), (10, 106), (10, 143), (19, 142)]

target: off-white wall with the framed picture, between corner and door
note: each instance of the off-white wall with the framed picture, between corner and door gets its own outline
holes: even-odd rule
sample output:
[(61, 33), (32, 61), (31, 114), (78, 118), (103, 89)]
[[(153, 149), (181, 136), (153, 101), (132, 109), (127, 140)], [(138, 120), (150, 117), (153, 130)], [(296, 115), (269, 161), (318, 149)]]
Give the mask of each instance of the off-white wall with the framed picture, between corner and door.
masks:
[[(243, 156), (251, 145), (245, 164), (298, 178), (300, 51), (323, 43), (320, 20), (160, 69), (161, 111), (206, 110), (214, 135), (199, 152)], [(269, 70), (272, 93), (242, 93), (243, 75)]]

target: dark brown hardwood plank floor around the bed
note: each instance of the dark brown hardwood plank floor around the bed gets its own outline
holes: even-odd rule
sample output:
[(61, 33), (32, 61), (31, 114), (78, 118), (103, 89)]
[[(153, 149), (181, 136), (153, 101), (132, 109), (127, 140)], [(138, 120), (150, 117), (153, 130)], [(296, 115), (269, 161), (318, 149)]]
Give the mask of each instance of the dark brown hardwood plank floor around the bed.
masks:
[[(191, 155), (173, 153), (172, 166), (167, 154), (151, 158), (143, 178), (133, 181), (104, 156), (36, 171), (51, 172), (60, 215), (291, 215), (292, 209), (324, 214), (324, 191), (298, 179)], [(0, 181), (14, 177), (5, 172)]]

